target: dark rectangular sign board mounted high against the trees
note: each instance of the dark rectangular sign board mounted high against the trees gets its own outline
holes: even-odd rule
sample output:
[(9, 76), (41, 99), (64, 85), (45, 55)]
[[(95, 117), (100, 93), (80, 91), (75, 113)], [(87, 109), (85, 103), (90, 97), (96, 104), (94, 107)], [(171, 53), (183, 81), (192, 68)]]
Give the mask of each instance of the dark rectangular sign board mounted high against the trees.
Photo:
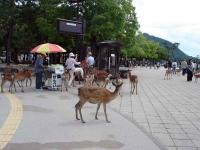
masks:
[(84, 34), (83, 22), (57, 19), (57, 30), (59, 33)]

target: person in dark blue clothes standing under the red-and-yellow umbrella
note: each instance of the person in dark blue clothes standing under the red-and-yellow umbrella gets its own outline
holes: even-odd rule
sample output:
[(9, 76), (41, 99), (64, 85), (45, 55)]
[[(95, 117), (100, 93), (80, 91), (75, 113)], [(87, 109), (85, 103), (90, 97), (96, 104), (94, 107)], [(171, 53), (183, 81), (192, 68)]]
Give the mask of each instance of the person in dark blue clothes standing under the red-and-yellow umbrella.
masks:
[(46, 53), (39, 53), (35, 61), (35, 76), (36, 76), (36, 89), (42, 89), (42, 73), (43, 73), (43, 60)]

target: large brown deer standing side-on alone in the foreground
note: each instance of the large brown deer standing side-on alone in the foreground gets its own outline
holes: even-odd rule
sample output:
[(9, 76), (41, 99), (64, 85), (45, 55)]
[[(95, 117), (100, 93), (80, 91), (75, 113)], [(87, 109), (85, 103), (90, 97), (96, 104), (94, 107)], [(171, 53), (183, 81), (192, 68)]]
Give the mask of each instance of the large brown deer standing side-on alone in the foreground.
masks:
[(114, 82), (112, 82), (112, 83), (115, 86), (115, 90), (113, 92), (106, 88), (103, 88), (103, 87), (81, 87), (81, 88), (78, 88), (79, 102), (75, 105), (75, 113), (76, 113), (77, 120), (80, 120), (78, 117), (78, 111), (79, 111), (81, 122), (85, 123), (85, 121), (83, 120), (81, 109), (86, 102), (89, 102), (92, 104), (97, 104), (97, 110), (96, 110), (96, 114), (95, 114), (96, 120), (98, 120), (97, 115), (98, 115), (99, 108), (100, 108), (101, 104), (103, 104), (106, 122), (110, 123), (110, 121), (108, 120), (107, 113), (106, 113), (106, 104), (111, 102), (118, 96), (118, 92), (119, 92), (123, 82), (117, 82), (117, 84)]

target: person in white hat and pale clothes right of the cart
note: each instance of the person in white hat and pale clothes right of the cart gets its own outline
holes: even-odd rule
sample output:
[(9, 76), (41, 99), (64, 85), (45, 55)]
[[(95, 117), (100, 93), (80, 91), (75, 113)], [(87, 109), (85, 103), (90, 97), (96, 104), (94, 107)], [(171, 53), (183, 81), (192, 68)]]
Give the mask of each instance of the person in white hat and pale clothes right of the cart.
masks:
[(83, 78), (83, 69), (81, 67), (75, 67), (75, 65), (80, 65), (80, 62), (76, 61), (77, 58), (75, 58), (74, 53), (69, 54), (69, 58), (65, 62), (66, 70), (69, 71), (70, 74), (70, 80), (68, 82), (68, 86), (71, 86), (72, 81), (74, 79), (74, 73), (75, 72), (80, 72), (81, 77)]

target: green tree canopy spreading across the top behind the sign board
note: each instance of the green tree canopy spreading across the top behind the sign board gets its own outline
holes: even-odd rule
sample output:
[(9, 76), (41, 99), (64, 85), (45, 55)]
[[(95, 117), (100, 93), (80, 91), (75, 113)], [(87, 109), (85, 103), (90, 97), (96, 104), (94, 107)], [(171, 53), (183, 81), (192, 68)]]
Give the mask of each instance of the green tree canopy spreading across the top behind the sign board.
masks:
[(160, 59), (165, 52), (158, 44), (137, 34), (139, 23), (132, 0), (86, 0), (79, 8), (68, 0), (0, 1), (0, 50), (29, 53), (38, 44), (52, 42), (67, 51), (80, 44), (81, 37), (60, 35), (56, 18), (86, 22), (84, 43), (104, 40), (123, 44), (125, 57)]

